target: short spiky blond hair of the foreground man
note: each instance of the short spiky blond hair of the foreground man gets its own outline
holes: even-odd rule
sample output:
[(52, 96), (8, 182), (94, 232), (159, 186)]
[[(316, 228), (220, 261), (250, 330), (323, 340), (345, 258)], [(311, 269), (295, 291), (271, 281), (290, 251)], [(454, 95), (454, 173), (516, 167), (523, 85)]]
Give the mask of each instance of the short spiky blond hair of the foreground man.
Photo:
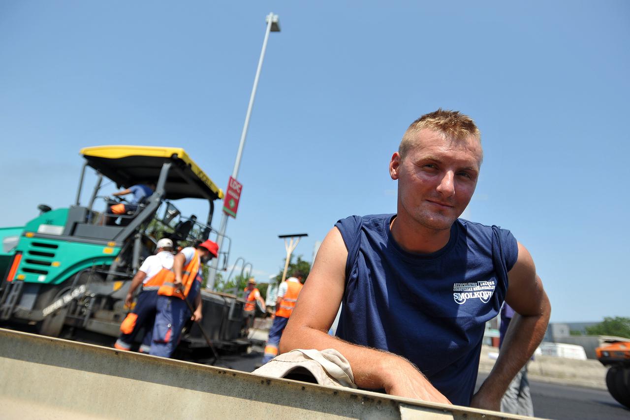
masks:
[(453, 141), (460, 141), (474, 136), (481, 142), (481, 132), (471, 117), (459, 111), (438, 108), (437, 111), (422, 115), (412, 122), (407, 131), (404, 132), (403, 140), (398, 146), (398, 153), (401, 158), (404, 158), (404, 155), (413, 146), (416, 134), (422, 129), (440, 132), (444, 137)]

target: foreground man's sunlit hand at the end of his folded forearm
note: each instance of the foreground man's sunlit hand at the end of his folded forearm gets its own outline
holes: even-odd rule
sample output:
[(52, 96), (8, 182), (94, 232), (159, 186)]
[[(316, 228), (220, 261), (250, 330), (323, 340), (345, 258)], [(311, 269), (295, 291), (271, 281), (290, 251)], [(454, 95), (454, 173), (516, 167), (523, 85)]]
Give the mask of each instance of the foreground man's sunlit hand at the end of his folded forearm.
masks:
[(449, 399), (435, 389), (428, 379), (409, 361), (393, 356), (392, 362), (387, 367), (387, 377), (384, 383), (387, 394), (427, 402), (451, 404)]

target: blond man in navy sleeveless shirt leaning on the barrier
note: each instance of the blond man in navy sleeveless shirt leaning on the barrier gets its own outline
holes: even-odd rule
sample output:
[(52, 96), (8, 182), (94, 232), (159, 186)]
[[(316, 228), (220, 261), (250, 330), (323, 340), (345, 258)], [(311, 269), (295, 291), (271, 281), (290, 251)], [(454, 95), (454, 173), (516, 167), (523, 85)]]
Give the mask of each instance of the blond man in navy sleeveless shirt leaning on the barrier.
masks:
[[(498, 411), (541, 342), (551, 305), (532, 257), (510, 231), (459, 219), (482, 158), (479, 129), (467, 115), (439, 109), (415, 120), (389, 162), (397, 213), (351, 216), (329, 231), (281, 353), (336, 349), (360, 388)], [(484, 326), (504, 300), (520, 316), (474, 394)]]

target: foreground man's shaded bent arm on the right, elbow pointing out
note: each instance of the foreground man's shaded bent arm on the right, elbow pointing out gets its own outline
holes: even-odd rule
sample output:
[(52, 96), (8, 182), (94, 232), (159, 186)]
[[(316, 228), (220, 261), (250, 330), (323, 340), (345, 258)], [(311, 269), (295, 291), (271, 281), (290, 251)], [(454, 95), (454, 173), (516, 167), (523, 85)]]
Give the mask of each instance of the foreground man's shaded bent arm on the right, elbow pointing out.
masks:
[(518, 259), (508, 272), (509, 286), (505, 301), (516, 312), (501, 345), (495, 367), (473, 397), (473, 407), (500, 409), (501, 397), (514, 376), (527, 363), (549, 324), (551, 304), (536, 275), (529, 251), (518, 244)]

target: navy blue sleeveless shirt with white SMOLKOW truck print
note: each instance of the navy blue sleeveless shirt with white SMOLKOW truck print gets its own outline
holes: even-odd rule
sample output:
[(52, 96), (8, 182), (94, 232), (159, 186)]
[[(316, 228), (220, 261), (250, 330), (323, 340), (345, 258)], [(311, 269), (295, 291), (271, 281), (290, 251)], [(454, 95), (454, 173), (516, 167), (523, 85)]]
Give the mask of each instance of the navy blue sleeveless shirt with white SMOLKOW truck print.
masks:
[(517, 242), (508, 230), (458, 219), (444, 248), (411, 254), (391, 235), (394, 216), (335, 225), (348, 248), (336, 335), (409, 359), (450, 402), (469, 405), (485, 324), (505, 298)]

